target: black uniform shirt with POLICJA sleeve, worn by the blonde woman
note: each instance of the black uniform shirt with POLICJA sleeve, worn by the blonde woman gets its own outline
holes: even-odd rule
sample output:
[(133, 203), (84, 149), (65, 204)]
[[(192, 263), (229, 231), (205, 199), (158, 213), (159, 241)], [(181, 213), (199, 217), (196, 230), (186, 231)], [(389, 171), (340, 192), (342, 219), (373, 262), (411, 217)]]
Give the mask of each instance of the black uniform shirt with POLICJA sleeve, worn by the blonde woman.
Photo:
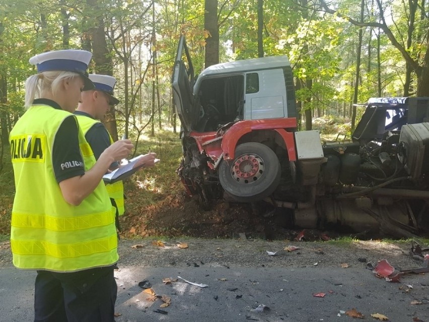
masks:
[[(35, 99), (33, 104), (44, 104), (61, 109), (56, 102), (45, 98)], [(76, 117), (70, 114), (56, 132), (52, 147), (52, 166), (58, 183), (85, 174), (83, 157), (79, 148), (78, 131)]]

